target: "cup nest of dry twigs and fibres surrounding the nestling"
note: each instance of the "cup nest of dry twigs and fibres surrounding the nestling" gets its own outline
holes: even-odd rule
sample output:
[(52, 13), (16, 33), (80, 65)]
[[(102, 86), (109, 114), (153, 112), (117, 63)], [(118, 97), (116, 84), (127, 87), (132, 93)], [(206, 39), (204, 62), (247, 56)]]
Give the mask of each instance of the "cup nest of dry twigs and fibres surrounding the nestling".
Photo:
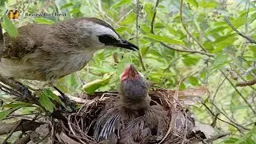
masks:
[[(204, 133), (204, 130), (200, 130), (198, 122), (194, 119), (193, 114), (186, 110), (187, 99), (197, 98), (206, 92), (206, 88), (199, 88), (193, 90), (153, 90), (150, 91), (150, 97), (152, 102), (150, 106), (162, 106), (166, 111), (167, 117), (170, 118), (166, 129), (166, 133), (158, 135), (156, 141), (152, 143), (194, 143), (194, 142), (210, 142), (213, 139), (208, 134)], [(68, 119), (67, 123), (61, 124), (58, 128), (58, 134), (55, 134), (59, 142), (66, 143), (113, 143), (109, 141), (97, 142), (94, 139), (94, 125), (105, 107), (114, 105), (117, 103), (118, 93), (95, 93), (90, 95), (90, 99), (82, 100), (81, 108), (73, 114), (66, 114)], [(194, 100), (193, 100), (194, 101)], [(158, 116), (157, 116), (158, 117)], [(209, 128), (209, 127), (208, 127)], [(135, 130), (133, 126), (131, 130)], [(152, 134), (151, 134), (152, 135)], [(146, 137), (141, 134), (137, 137)], [(120, 138), (120, 137), (119, 137)], [(138, 139), (138, 138), (137, 138)], [(134, 140), (136, 141), (136, 140)], [(114, 143), (132, 143), (123, 142), (122, 137)], [(150, 143), (142, 142), (138, 140), (138, 143)]]

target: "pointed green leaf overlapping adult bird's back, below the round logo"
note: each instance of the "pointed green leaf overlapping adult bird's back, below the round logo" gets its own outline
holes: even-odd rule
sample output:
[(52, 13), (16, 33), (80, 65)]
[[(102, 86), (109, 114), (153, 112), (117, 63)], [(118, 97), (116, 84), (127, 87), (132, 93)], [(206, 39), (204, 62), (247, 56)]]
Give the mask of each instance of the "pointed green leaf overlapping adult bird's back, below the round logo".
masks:
[(10, 37), (16, 38), (18, 36), (17, 27), (14, 25), (13, 22), (10, 21), (9, 18), (7, 18), (6, 14), (4, 14), (2, 18), (3, 18), (3, 23), (5, 25), (6, 32), (10, 35)]

